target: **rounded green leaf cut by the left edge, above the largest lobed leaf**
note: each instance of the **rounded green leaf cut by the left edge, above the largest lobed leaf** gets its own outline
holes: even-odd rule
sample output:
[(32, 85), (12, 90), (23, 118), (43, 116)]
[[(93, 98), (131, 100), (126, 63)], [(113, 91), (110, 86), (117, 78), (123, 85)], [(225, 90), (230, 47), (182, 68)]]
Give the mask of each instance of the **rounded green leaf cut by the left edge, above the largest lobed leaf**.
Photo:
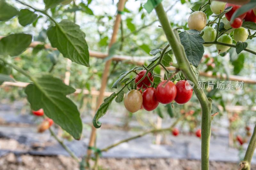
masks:
[(30, 34), (10, 34), (0, 40), (0, 55), (17, 56), (28, 48), (31, 41)]

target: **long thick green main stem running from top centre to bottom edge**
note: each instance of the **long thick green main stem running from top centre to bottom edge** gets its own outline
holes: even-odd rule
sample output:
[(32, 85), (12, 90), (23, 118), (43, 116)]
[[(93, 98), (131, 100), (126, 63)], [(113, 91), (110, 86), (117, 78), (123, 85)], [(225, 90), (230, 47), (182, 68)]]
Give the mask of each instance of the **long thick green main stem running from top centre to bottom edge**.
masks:
[(197, 99), (199, 100), (202, 107), (202, 146), (201, 146), (201, 169), (209, 170), (209, 152), (210, 152), (210, 137), (211, 137), (211, 107), (212, 100), (207, 99), (203, 89), (197, 88), (198, 80), (194, 74), (191, 66), (188, 62), (187, 56), (185, 54), (184, 47), (180, 43), (177, 34), (175, 34), (170, 22), (167, 18), (167, 15), (164, 11), (163, 5), (159, 4), (156, 8), (156, 14), (159, 18), (159, 21), (163, 27), (164, 33), (168, 42), (171, 45), (173, 54), (176, 57), (179, 69), (183, 72), (185, 77), (192, 81), (194, 86), (194, 92), (196, 93)]

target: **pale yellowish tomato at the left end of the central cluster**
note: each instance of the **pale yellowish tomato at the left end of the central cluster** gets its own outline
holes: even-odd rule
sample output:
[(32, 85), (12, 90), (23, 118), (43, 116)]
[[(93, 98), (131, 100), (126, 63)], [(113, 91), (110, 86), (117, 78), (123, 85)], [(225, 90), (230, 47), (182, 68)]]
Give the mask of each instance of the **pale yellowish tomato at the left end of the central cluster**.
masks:
[(140, 110), (140, 107), (142, 106), (142, 94), (138, 90), (130, 90), (129, 92), (126, 93), (124, 96), (124, 107), (129, 111), (129, 112), (137, 112)]

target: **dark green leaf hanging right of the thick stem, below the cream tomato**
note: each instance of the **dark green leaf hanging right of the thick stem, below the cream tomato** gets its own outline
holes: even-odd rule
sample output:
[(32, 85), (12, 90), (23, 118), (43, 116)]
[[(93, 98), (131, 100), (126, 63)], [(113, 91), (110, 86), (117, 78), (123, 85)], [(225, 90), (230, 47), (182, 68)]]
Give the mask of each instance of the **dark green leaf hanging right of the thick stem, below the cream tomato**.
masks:
[(195, 67), (198, 67), (204, 55), (204, 39), (200, 36), (201, 33), (192, 29), (179, 34), (180, 42), (185, 48), (188, 61)]

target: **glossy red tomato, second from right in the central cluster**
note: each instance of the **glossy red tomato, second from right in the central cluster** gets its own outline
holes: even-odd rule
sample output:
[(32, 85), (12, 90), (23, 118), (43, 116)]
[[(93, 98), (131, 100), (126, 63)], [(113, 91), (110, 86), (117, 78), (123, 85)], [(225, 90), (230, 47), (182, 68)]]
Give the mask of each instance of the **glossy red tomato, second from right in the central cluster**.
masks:
[(156, 87), (156, 99), (162, 104), (171, 103), (177, 94), (176, 86), (172, 81), (169, 81), (164, 88), (162, 87), (166, 81), (162, 81)]

